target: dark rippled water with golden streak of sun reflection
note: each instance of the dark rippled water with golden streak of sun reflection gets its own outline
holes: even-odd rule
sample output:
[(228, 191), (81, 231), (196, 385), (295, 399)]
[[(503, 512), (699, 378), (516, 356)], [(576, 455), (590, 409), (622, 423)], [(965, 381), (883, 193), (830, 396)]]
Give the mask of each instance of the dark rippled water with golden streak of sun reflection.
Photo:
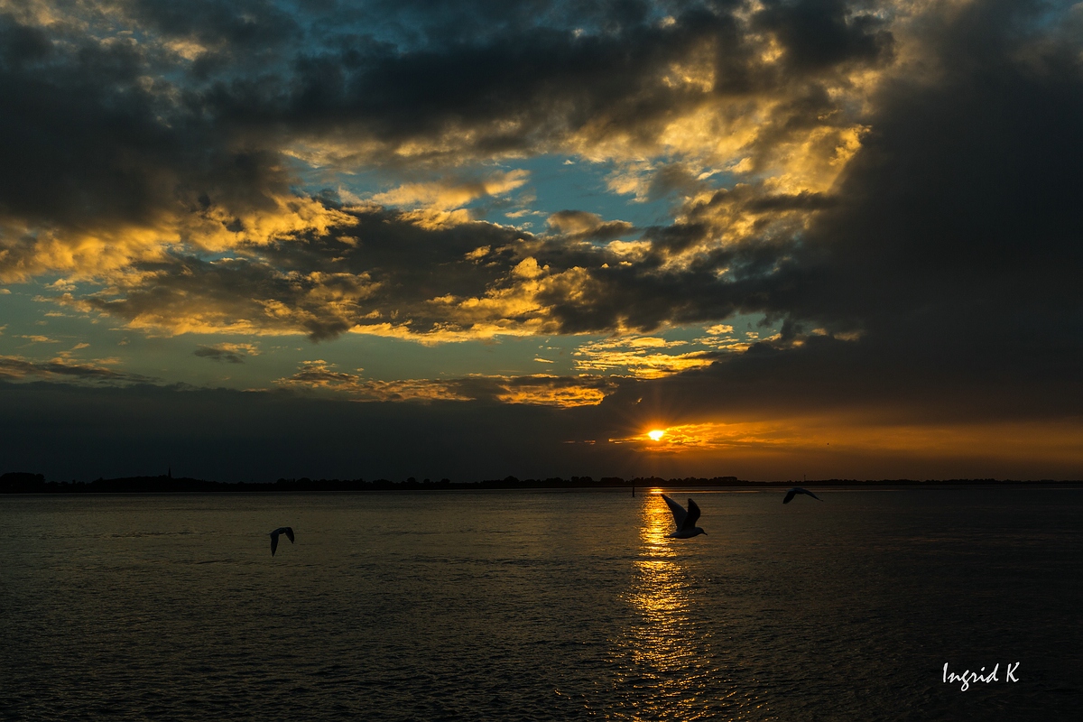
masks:
[(0, 717), (1078, 712), (1083, 489), (673, 496), (0, 497)]

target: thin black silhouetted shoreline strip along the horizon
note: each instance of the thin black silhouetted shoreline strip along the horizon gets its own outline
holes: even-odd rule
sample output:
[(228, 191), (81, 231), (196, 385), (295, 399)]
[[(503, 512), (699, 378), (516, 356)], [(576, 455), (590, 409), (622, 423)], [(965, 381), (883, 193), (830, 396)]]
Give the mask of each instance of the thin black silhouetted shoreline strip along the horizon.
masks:
[(526, 478), (506, 476), (500, 480), (481, 482), (453, 482), (447, 478), (438, 482), (431, 480), (407, 478), (392, 482), (386, 478), (365, 481), (326, 480), (326, 478), (279, 478), (277, 482), (209, 482), (199, 478), (161, 476), (129, 476), (123, 478), (97, 478), (93, 482), (47, 482), (42, 474), (6, 473), (0, 476), (0, 494), (177, 494), (177, 493), (268, 493), (268, 491), (395, 491), (395, 490), (471, 490), (471, 489), (645, 489), (655, 487), (726, 487), (726, 488), (771, 488), (778, 486), (962, 486), (962, 485), (995, 485), (995, 486), (1083, 486), (1083, 481), (1017, 481), (996, 478), (949, 478), (949, 480), (912, 480), (912, 478), (824, 478), (809, 481), (774, 481), (751, 482), (736, 476), (715, 476), (713, 478), (686, 477), (661, 478), (637, 477), (624, 480), (616, 476), (605, 476), (599, 480), (590, 476), (572, 476), (571, 478)]

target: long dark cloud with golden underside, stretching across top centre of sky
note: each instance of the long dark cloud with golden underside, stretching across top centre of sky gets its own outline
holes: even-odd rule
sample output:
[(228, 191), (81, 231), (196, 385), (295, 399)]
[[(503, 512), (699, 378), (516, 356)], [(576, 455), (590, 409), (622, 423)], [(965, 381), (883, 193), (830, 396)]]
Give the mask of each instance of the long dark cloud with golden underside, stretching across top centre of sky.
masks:
[[(800, 103), (781, 106), (775, 132), (784, 135), (798, 116), (822, 123), (837, 109), (823, 80), (834, 80), (841, 66), (882, 62), (879, 49), (890, 44), (889, 34), (869, 35), (871, 24), (839, 3), (799, 10), (823, 18), (830, 32), (809, 40), (781, 6), (758, 29), (793, 45), (791, 69), (811, 74), (801, 80), (762, 62), (762, 44), (738, 5), (691, 5), (660, 23), (656, 14), (622, 13), (613, 3), (596, 6), (593, 24), (571, 14), (560, 25), (509, 24), (469, 41), (451, 41), (428, 25), (429, 43), (409, 52), (357, 38), (300, 56), (289, 84), (235, 80), (207, 99), (238, 123), (274, 118), (305, 132), (361, 132), (390, 147), (455, 132), (472, 139), (456, 152), (485, 154), (546, 149), (577, 133), (591, 140), (625, 133), (653, 145), (666, 123), (704, 103), (796, 93)], [(610, 22), (609, 13), (619, 19)], [(675, 64), (704, 54), (709, 87), (667, 80)], [(425, 150), (421, 159), (445, 153)]]

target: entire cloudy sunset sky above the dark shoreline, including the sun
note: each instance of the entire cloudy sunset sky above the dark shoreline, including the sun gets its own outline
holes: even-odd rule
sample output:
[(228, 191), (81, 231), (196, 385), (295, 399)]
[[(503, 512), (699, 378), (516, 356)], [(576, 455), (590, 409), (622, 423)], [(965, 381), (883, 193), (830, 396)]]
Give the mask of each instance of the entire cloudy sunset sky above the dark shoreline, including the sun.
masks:
[(1083, 478), (1083, 3), (0, 0), (0, 473)]

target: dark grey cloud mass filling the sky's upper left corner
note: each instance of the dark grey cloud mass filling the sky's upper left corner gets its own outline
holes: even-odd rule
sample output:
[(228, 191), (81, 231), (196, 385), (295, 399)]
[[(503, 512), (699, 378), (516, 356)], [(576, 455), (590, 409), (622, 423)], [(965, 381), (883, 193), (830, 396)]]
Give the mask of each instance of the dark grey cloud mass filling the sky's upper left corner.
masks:
[[(63, 26), (62, 26), (63, 27)], [(259, 152), (178, 104), (160, 51), (127, 37), (95, 42), (0, 15), (0, 209), (31, 222), (151, 222), (187, 191), (258, 201), (285, 176)], [(284, 185), (282, 187), (285, 187)]]

